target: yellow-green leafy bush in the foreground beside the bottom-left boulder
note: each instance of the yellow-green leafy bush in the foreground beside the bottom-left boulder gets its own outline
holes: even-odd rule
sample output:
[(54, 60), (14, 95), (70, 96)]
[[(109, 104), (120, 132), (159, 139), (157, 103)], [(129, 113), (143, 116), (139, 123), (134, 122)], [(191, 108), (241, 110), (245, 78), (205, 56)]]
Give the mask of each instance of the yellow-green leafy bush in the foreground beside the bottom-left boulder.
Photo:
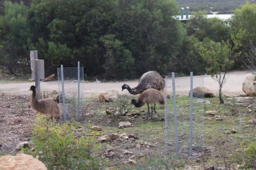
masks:
[(38, 115), (33, 129), (34, 156), (49, 169), (100, 169), (100, 160), (92, 153), (99, 150), (92, 135), (76, 139), (74, 126), (47, 121)]

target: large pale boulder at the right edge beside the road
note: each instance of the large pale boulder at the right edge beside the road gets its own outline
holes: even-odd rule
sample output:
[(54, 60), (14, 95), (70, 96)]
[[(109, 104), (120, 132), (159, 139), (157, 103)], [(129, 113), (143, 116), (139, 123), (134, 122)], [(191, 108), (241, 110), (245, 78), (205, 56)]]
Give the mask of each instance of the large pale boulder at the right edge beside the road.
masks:
[[(242, 90), (248, 96), (256, 96), (256, 87), (253, 84), (255, 79), (255, 74), (247, 74), (244, 81), (243, 81), (243, 88)], [(255, 81), (256, 83), (256, 81)]]

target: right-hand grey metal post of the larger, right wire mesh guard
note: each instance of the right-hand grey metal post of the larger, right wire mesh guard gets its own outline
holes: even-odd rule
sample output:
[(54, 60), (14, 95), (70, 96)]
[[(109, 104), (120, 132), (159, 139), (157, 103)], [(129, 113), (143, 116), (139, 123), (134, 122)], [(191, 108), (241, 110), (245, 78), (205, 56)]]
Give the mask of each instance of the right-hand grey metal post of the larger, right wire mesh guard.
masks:
[(192, 155), (192, 140), (193, 140), (193, 72), (190, 72), (189, 155)]

